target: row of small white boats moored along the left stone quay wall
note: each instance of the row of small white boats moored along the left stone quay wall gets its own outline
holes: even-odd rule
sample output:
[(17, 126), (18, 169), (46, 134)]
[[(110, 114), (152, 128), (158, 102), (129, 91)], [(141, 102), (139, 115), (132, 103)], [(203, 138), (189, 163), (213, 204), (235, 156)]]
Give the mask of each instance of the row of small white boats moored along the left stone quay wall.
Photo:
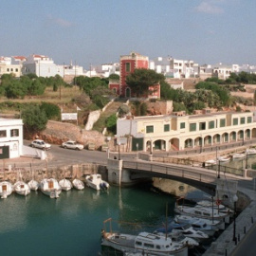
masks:
[[(87, 175), (85, 177), (85, 183), (88, 187), (98, 191), (107, 190), (109, 188), (109, 184), (101, 179), (101, 174)], [(28, 183), (19, 180), (14, 185), (9, 181), (2, 181), (0, 182), (0, 196), (1, 198), (7, 198), (11, 192), (27, 196), (30, 191), (40, 190), (50, 198), (58, 198), (62, 191), (70, 191), (72, 188), (83, 190), (84, 183), (78, 178), (72, 181), (66, 178), (60, 181), (55, 178), (44, 178), (40, 182), (32, 179)]]

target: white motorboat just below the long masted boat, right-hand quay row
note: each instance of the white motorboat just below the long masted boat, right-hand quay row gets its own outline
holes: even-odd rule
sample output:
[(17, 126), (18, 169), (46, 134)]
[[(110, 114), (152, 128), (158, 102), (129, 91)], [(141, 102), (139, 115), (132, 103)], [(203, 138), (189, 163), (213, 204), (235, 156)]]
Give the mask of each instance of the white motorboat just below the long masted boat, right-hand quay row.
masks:
[[(200, 226), (199, 229), (203, 229), (205, 233), (210, 235), (210, 232), (208, 232), (208, 229), (213, 230), (214, 232), (218, 229), (225, 229), (225, 223), (220, 220), (209, 220), (209, 219), (202, 219), (197, 217), (192, 217), (188, 215), (175, 215), (174, 222), (176, 223), (189, 223), (192, 225), (193, 229), (197, 229), (198, 226)], [(207, 226), (207, 228), (205, 227)]]

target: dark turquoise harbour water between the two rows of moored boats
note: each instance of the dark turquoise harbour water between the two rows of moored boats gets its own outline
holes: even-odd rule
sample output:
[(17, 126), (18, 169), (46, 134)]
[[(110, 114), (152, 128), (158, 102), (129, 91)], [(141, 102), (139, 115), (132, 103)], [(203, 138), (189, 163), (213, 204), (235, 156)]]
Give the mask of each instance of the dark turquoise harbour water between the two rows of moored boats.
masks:
[(113, 218), (116, 230), (153, 230), (165, 222), (167, 204), (174, 215), (174, 196), (149, 185), (109, 192), (86, 187), (58, 199), (11, 194), (0, 200), (0, 255), (99, 255), (105, 219)]

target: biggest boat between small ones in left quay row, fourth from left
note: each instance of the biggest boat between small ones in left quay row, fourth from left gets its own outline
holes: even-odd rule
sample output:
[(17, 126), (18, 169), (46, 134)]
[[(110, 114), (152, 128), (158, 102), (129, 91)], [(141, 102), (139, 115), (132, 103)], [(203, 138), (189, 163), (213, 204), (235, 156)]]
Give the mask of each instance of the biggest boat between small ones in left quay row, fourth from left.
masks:
[(40, 182), (40, 191), (50, 198), (58, 198), (62, 192), (62, 187), (55, 178), (44, 178)]

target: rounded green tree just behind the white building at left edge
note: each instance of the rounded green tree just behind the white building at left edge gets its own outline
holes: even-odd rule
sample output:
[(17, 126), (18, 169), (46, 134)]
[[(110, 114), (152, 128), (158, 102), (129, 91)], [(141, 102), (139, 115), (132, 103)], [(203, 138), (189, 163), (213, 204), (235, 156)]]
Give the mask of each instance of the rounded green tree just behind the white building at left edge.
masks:
[(22, 110), (21, 115), (24, 128), (28, 133), (35, 134), (46, 129), (47, 117), (46, 111), (41, 109), (39, 105), (29, 105)]

